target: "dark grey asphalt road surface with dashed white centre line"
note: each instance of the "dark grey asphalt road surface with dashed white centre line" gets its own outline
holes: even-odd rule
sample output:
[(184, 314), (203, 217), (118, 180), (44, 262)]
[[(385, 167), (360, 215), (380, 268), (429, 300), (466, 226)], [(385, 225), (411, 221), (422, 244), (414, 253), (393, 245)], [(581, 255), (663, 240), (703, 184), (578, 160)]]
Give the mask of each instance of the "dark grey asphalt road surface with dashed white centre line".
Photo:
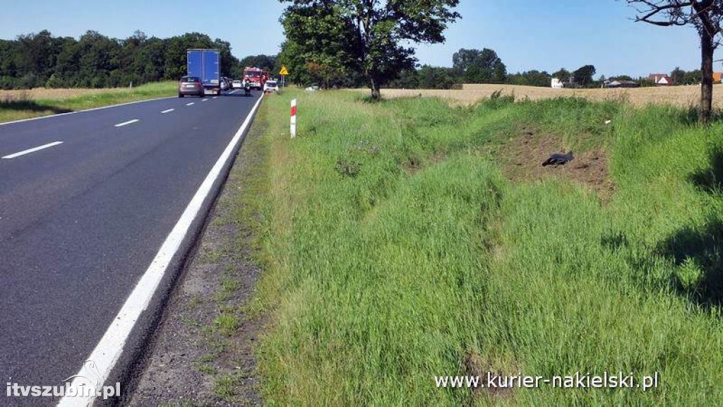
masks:
[(62, 385), (78, 372), (259, 97), (0, 125), (4, 382)]

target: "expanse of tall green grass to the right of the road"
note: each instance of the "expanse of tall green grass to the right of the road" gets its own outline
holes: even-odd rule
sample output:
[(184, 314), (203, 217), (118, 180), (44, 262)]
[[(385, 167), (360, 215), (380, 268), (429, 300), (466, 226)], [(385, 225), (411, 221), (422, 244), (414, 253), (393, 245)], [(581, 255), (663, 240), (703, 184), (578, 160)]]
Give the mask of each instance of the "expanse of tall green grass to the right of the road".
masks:
[[(299, 98), (299, 137), (288, 101)], [(723, 124), (581, 99), (265, 101), (259, 349), (275, 405), (714, 405), (723, 400)], [(612, 125), (604, 121), (612, 119)], [(616, 191), (514, 183), (521, 126), (604, 148)], [(434, 376), (659, 372), (638, 389), (515, 389)], [(484, 394), (484, 393), (483, 393)]]

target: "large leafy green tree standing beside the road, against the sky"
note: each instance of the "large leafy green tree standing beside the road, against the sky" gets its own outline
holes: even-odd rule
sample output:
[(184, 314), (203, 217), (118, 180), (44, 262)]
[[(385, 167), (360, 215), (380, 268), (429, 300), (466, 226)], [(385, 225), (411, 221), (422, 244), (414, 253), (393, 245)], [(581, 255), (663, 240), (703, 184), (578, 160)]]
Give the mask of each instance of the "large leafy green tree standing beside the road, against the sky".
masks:
[(364, 75), (372, 98), (414, 68), (405, 43), (441, 43), (459, 0), (279, 0), (286, 38), (329, 77)]

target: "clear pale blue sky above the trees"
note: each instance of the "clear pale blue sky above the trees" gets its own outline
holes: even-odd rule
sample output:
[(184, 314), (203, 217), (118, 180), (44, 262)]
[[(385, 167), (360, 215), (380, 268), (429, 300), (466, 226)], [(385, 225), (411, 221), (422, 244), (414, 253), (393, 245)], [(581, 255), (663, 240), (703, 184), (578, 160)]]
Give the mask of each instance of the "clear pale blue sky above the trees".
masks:
[[(5, 39), (43, 29), (76, 38), (86, 30), (116, 38), (198, 31), (230, 41), (239, 58), (275, 54), (283, 41), (277, 0), (0, 1)], [(420, 63), (451, 66), (458, 49), (491, 48), (509, 72), (594, 64), (598, 75), (638, 76), (700, 66), (695, 30), (633, 22), (624, 0), (461, 0), (458, 11), (463, 18), (450, 25), (446, 43), (419, 46)], [(714, 68), (723, 70), (721, 62)]]

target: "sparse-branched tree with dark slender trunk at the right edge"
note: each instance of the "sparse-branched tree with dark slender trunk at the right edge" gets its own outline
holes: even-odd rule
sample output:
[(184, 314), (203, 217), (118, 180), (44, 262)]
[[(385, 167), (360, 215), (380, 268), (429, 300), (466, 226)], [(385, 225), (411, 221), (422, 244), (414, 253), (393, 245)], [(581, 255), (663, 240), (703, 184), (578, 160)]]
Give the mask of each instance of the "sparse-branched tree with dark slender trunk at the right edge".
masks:
[(713, 54), (721, 41), (721, 0), (627, 0), (636, 7), (636, 21), (662, 27), (692, 25), (701, 42), (701, 106), (698, 119), (709, 121), (713, 109)]

